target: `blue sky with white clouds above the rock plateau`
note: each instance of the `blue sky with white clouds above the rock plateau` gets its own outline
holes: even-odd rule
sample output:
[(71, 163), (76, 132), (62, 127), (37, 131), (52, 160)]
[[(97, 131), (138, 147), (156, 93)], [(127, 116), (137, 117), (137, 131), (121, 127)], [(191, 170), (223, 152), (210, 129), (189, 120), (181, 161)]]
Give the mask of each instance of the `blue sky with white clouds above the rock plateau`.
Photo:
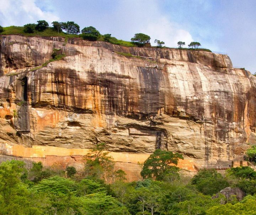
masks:
[(80, 30), (128, 40), (135, 33), (168, 47), (192, 41), (256, 72), (256, 0), (0, 0), (0, 25), (74, 21)]

